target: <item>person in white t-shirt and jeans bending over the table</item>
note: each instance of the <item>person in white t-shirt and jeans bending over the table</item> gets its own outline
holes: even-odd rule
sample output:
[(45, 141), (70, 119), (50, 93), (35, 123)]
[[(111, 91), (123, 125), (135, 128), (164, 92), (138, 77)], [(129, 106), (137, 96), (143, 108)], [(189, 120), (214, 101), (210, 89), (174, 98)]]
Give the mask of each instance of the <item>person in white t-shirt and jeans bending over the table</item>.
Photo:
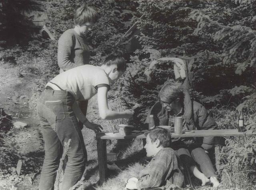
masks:
[(80, 178), (87, 161), (86, 148), (78, 120), (95, 133), (102, 127), (91, 123), (82, 114), (77, 100), (89, 100), (98, 94), (98, 109), (102, 119), (131, 118), (133, 110), (115, 112), (108, 108), (107, 93), (110, 83), (126, 71), (122, 53), (106, 57), (100, 67), (82, 65), (62, 72), (46, 84), (38, 100), (37, 113), (45, 142), (45, 158), (39, 189), (53, 190), (56, 171), (62, 156), (64, 143), (71, 139), (68, 162), (64, 172), (62, 190), (68, 190)]

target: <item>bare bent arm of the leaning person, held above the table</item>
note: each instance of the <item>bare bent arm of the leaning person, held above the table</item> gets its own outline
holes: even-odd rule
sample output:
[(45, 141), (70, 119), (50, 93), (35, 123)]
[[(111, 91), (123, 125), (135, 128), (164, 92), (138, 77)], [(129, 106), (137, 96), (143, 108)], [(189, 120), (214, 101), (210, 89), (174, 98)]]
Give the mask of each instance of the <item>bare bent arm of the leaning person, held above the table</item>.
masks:
[(124, 112), (115, 112), (108, 108), (107, 100), (108, 88), (107, 86), (101, 86), (98, 88), (98, 107), (100, 118), (102, 119), (119, 119), (119, 118), (131, 118), (134, 114), (133, 110), (125, 110)]

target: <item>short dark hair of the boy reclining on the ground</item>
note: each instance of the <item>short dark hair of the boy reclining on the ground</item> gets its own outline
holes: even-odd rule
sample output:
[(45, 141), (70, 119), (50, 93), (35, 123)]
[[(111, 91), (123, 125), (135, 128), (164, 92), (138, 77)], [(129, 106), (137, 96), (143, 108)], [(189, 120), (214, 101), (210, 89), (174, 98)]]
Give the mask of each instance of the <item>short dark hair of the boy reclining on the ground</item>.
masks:
[(151, 142), (155, 142), (157, 139), (159, 139), (160, 145), (162, 145), (162, 147), (164, 148), (169, 147), (170, 144), (172, 143), (171, 133), (161, 127), (150, 129), (149, 131), (146, 131), (144, 134), (145, 136), (149, 135)]

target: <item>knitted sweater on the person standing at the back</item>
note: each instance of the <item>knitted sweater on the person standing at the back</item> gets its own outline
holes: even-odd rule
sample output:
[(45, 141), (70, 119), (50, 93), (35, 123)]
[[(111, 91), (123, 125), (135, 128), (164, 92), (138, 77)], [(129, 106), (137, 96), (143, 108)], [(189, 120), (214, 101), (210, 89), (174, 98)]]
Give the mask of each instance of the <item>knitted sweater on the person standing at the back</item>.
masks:
[(89, 64), (90, 50), (83, 36), (74, 29), (66, 30), (58, 40), (58, 65), (60, 72)]

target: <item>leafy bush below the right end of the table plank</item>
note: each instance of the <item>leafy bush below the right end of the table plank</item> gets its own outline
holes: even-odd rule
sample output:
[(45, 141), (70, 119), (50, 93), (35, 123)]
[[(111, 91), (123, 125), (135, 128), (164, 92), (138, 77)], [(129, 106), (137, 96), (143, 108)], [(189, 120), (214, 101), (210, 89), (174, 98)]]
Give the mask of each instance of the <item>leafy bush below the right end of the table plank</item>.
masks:
[(226, 139), (222, 148), (222, 183), (227, 188), (251, 189), (256, 186), (256, 136)]

